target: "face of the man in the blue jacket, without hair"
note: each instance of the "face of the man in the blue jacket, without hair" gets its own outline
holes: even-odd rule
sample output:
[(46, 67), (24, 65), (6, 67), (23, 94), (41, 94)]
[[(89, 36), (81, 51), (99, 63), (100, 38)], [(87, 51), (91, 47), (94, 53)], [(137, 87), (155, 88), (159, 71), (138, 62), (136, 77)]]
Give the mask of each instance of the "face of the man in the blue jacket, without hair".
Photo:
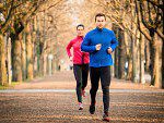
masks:
[(105, 17), (104, 16), (97, 16), (95, 23), (96, 23), (96, 27), (102, 29), (106, 23)]

